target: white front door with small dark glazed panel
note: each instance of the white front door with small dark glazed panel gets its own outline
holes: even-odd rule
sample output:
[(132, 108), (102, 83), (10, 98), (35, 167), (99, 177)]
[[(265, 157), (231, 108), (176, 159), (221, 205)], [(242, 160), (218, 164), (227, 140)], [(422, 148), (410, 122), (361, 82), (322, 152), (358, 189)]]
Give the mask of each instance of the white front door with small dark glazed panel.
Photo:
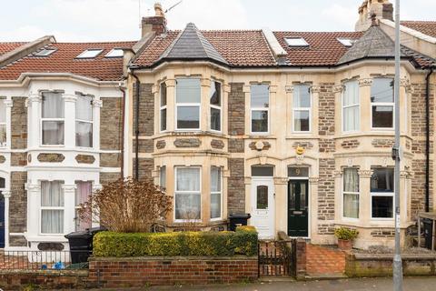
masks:
[(274, 182), (271, 178), (252, 178), (252, 218), (259, 238), (274, 237)]

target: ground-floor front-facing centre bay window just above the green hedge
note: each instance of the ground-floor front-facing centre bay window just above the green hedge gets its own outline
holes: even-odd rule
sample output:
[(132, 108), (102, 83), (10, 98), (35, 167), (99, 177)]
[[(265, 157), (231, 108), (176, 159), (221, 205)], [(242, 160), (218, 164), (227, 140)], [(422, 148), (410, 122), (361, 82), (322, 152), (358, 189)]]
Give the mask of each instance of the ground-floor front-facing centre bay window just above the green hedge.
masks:
[(175, 219), (201, 219), (201, 168), (175, 167)]

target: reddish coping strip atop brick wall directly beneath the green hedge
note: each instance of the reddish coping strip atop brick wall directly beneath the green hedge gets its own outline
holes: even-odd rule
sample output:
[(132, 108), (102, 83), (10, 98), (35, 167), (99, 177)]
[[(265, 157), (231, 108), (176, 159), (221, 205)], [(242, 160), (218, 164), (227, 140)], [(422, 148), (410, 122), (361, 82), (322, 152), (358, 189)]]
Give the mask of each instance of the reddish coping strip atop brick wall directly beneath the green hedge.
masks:
[(90, 256), (89, 262), (257, 261), (257, 256)]

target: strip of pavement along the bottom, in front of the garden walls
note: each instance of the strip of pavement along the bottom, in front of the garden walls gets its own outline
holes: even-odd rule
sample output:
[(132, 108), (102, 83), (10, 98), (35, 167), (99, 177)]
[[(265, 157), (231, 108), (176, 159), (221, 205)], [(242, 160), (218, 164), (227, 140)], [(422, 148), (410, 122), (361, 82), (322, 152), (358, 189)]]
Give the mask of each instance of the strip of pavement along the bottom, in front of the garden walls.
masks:
[[(434, 291), (436, 290), (436, 276), (428, 277), (406, 277), (404, 278), (404, 291)], [(185, 291), (185, 290), (232, 290), (232, 291), (362, 291), (392, 290), (392, 278), (358, 278), (358, 279), (339, 279), (339, 280), (313, 280), (313, 281), (270, 281), (260, 283), (233, 284), (233, 285), (213, 285), (213, 286), (154, 286), (129, 290), (141, 291)], [(105, 291), (118, 291), (124, 289), (99, 289)]]

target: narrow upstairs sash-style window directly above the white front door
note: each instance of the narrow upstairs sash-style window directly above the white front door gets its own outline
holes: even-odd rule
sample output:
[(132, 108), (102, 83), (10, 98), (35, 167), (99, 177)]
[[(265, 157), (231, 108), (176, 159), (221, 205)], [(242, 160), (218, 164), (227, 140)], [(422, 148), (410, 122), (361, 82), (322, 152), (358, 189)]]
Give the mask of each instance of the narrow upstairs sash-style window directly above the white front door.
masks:
[(269, 128), (270, 86), (251, 85), (251, 119), (253, 134), (267, 134)]

